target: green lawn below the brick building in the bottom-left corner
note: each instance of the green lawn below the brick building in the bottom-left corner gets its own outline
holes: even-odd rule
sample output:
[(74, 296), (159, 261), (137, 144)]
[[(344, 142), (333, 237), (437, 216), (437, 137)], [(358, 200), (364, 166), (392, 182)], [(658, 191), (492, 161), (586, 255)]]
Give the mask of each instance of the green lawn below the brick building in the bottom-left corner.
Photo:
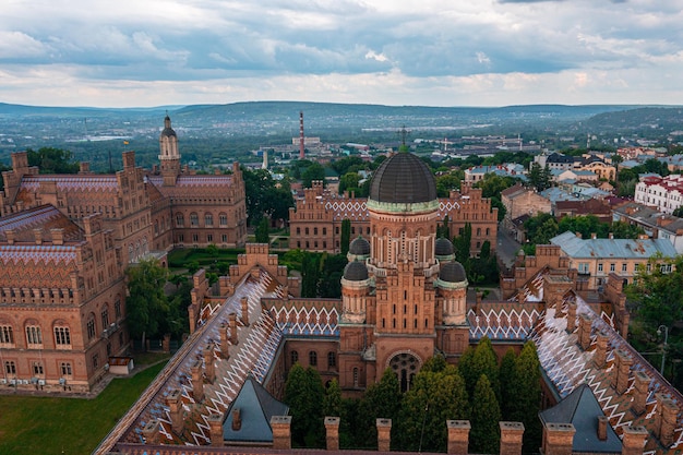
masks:
[(164, 364), (115, 379), (94, 399), (0, 395), (0, 454), (91, 454)]

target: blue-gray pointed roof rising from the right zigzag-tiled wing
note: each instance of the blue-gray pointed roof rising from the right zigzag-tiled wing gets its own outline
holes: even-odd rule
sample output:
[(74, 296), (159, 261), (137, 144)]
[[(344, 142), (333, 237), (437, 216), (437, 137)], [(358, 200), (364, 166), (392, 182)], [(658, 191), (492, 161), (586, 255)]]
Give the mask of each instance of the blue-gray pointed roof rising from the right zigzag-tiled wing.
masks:
[(576, 429), (572, 452), (621, 453), (622, 443), (611, 424), (607, 440), (598, 439), (598, 417), (604, 416), (598, 399), (586, 383), (576, 387), (562, 402), (539, 412), (543, 423), (572, 423)]

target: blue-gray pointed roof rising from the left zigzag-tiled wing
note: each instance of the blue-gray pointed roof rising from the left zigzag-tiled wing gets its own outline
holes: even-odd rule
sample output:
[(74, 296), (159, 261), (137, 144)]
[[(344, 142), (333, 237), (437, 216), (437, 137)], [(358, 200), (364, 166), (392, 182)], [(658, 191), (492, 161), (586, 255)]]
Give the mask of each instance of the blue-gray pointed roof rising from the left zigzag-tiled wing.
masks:
[[(232, 430), (232, 410), (239, 409), (242, 424)], [(286, 416), (289, 406), (278, 402), (250, 374), (228, 408), (223, 422), (223, 439), (239, 442), (273, 442), (271, 417)]]

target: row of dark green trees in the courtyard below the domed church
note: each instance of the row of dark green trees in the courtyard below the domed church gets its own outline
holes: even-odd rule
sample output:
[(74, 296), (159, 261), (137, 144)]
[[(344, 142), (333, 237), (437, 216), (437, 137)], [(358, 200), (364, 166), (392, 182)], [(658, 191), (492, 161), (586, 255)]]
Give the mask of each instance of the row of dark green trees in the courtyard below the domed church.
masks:
[(498, 453), (499, 421), (525, 426), (524, 452), (540, 446), (540, 363), (532, 342), (519, 355), (510, 348), (499, 363), (491, 340), (469, 347), (457, 367), (443, 356), (428, 359), (400, 392), (396, 373), (384, 371), (360, 399), (343, 398), (336, 380), (326, 386), (317, 371), (299, 363), (289, 371), (285, 403), (290, 407), (296, 447), (324, 447), (325, 416), (340, 417), (343, 450), (376, 450), (378, 418), (392, 419), (392, 451), (446, 452), (446, 420), (469, 420), (470, 453)]

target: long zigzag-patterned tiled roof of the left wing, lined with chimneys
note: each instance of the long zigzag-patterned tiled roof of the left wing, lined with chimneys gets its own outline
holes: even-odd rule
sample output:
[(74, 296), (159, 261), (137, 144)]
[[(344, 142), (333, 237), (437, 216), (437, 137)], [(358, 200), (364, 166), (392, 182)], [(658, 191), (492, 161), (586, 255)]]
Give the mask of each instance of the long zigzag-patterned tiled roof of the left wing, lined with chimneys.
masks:
[[(208, 417), (214, 412), (226, 411), (249, 374), (263, 383), (276, 358), (283, 333), (277, 328), (271, 313), (262, 311), (261, 298), (281, 296), (283, 288), (279, 285), (273, 286), (273, 279), (265, 271), (260, 271), (256, 278), (248, 275), (224, 304), (214, 308), (206, 319), (200, 320), (200, 327), (95, 453), (106, 454), (118, 443), (143, 443), (142, 430), (151, 419), (158, 419), (164, 444), (208, 444)], [(238, 344), (226, 347), (230, 350), (230, 358), (223, 359), (219, 356), (224, 348), (219, 346), (220, 326), (228, 322), (230, 313), (241, 313), (242, 297), (248, 299), (250, 324), (245, 326), (241, 321), (238, 323)], [(213, 346), (216, 379), (213, 384), (204, 383), (204, 400), (197, 405), (192, 394), (191, 367), (203, 358), (202, 351), (207, 345)], [(187, 411), (182, 439), (171, 431), (170, 409), (166, 404), (166, 397), (173, 390), (181, 391), (182, 406)]]

